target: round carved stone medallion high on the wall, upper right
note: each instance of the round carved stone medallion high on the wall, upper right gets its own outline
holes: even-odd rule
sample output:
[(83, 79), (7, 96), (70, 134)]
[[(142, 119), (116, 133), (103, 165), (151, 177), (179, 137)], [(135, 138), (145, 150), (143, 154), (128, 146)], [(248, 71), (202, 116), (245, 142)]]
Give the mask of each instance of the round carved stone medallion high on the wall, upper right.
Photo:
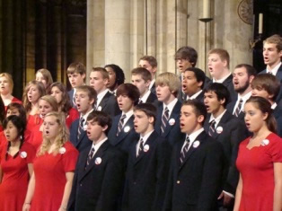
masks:
[(243, 22), (250, 25), (253, 22), (252, 5), (253, 5), (253, 0), (242, 0), (242, 2), (238, 5), (239, 17)]

